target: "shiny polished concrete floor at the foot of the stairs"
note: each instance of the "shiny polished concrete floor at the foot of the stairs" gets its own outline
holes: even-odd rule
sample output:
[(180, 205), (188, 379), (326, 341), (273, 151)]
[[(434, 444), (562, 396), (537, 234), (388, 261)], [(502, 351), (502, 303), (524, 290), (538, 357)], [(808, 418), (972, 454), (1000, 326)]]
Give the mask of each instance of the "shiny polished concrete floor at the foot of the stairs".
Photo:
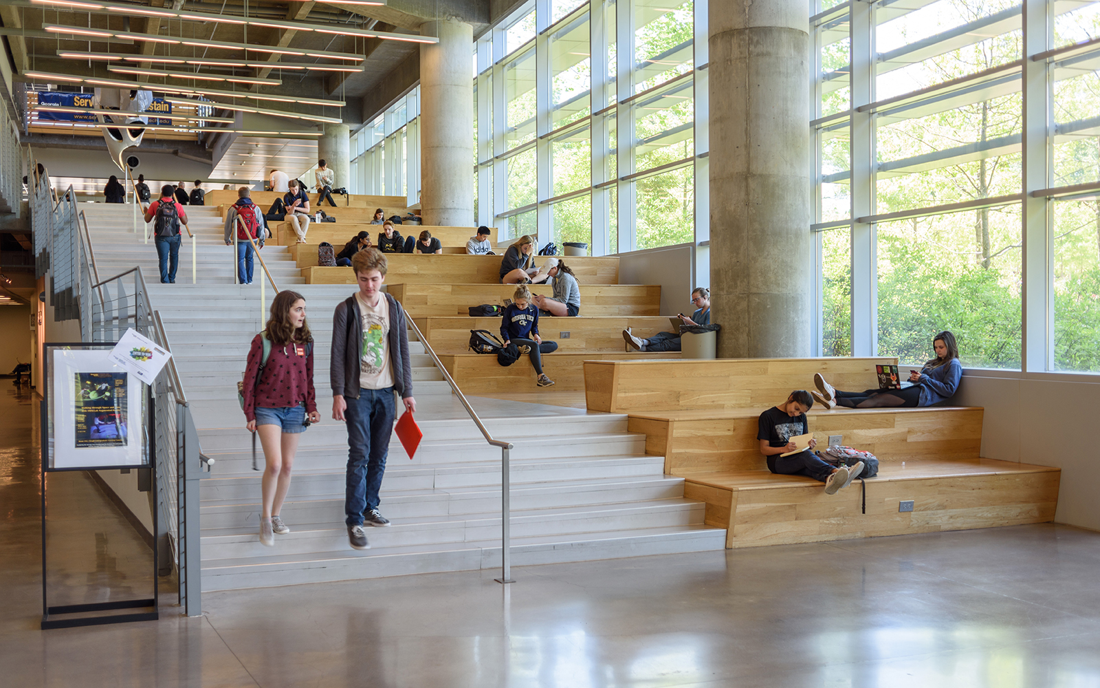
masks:
[[(36, 406), (0, 385), (3, 687), (1100, 687), (1100, 534), (1058, 525), (219, 592), (194, 619), (169, 594), (160, 621), (40, 631)], [(98, 488), (48, 495), (52, 601), (142, 594)]]

